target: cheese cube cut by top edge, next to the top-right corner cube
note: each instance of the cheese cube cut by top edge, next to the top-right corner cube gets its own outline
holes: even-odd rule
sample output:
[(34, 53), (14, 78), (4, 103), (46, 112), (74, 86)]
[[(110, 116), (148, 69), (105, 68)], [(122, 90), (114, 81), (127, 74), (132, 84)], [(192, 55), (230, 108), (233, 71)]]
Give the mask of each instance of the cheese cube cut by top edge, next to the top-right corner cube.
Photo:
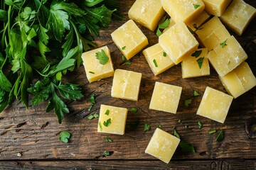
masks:
[(228, 7), (232, 0), (202, 0), (206, 5), (206, 12), (213, 16), (222, 16), (225, 9)]

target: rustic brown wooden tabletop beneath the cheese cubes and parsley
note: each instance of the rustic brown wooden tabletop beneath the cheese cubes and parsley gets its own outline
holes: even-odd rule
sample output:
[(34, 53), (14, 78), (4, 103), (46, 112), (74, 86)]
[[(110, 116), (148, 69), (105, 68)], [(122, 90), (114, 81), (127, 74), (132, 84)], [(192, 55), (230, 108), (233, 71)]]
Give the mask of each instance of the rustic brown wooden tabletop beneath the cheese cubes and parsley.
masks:
[[(255, 0), (247, 0), (256, 7)], [(120, 10), (126, 18), (134, 0), (121, 1)], [(89, 84), (83, 67), (68, 74), (68, 81), (80, 84), (85, 98), (68, 104), (70, 114), (65, 115), (63, 124), (58, 125), (53, 113), (46, 113), (46, 103), (28, 110), (18, 101), (6, 108), (0, 115), (0, 169), (256, 169), (256, 88), (235, 99), (224, 124), (196, 115), (202, 95), (193, 97), (193, 90), (203, 94), (206, 86), (226, 92), (218, 75), (211, 67), (210, 76), (193, 79), (181, 78), (181, 65), (155, 77), (142, 52), (132, 58), (132, 65), (122, 66), (122, 54), (112, 42), (110, 33), (125, 21), (114, 21), (110, 28), (101, 31), (95, 42), (98, 47), (110, 47), (115, 69), (127, 69), (142, 72), (142, 84), (139, 101), (126, 101), (112, 98), (110, 91), (112, 78), (102, 79)], [(139, 25), (139, 24), (138, 24)], [(149, 38), (149, 45), (158, 42), (154, 32), (139, 25)], [(235, 35), (230, 31), (232, 35)], [(247, 62), (256, 74), (256, 24), (250, 23), (242, 37), (235, 35), (248, 55)], [(149, 102), (154, 82), (182, 86), (181, 101), (176, 115), (149, 110)], [(92, 111), (88, 99), (92, 92), (96, 94), (97, 104)], [(186, 108), (184, 101), (192, 98)], [(129, 113), (125, 135), (107, 135), (97, 133), (97, 119), (88, 120), (87, 115), (99, 113), (100, 104), (139, 108), (138, 113)], [(182, 123), (178, 123), (182, 120)], [(198, 120), (203, 128), (198, 128)], [(144, 132), (144, 123), (151, 130)], [(169, 164), (145, 154), (147, 144), (156, 129), (172, 133), (176, 127), (183, 141), (191, 143), (196, 153), (184, 153), (177, 149)], [(188, 125), (188, 128), (184, 128)], [(66, 130), (72, 134), (70, 142), (58, 140), (60, 132)], [(210, 130), (223, 130), (224, 140), (216, 142), (218, 133), (209, 135)], [(109, 137), (113, 142), (105, 142)], [(105, 157), (103, 152), (112, 153)], [(21, 153), (21, 157), (17, 154)]]

